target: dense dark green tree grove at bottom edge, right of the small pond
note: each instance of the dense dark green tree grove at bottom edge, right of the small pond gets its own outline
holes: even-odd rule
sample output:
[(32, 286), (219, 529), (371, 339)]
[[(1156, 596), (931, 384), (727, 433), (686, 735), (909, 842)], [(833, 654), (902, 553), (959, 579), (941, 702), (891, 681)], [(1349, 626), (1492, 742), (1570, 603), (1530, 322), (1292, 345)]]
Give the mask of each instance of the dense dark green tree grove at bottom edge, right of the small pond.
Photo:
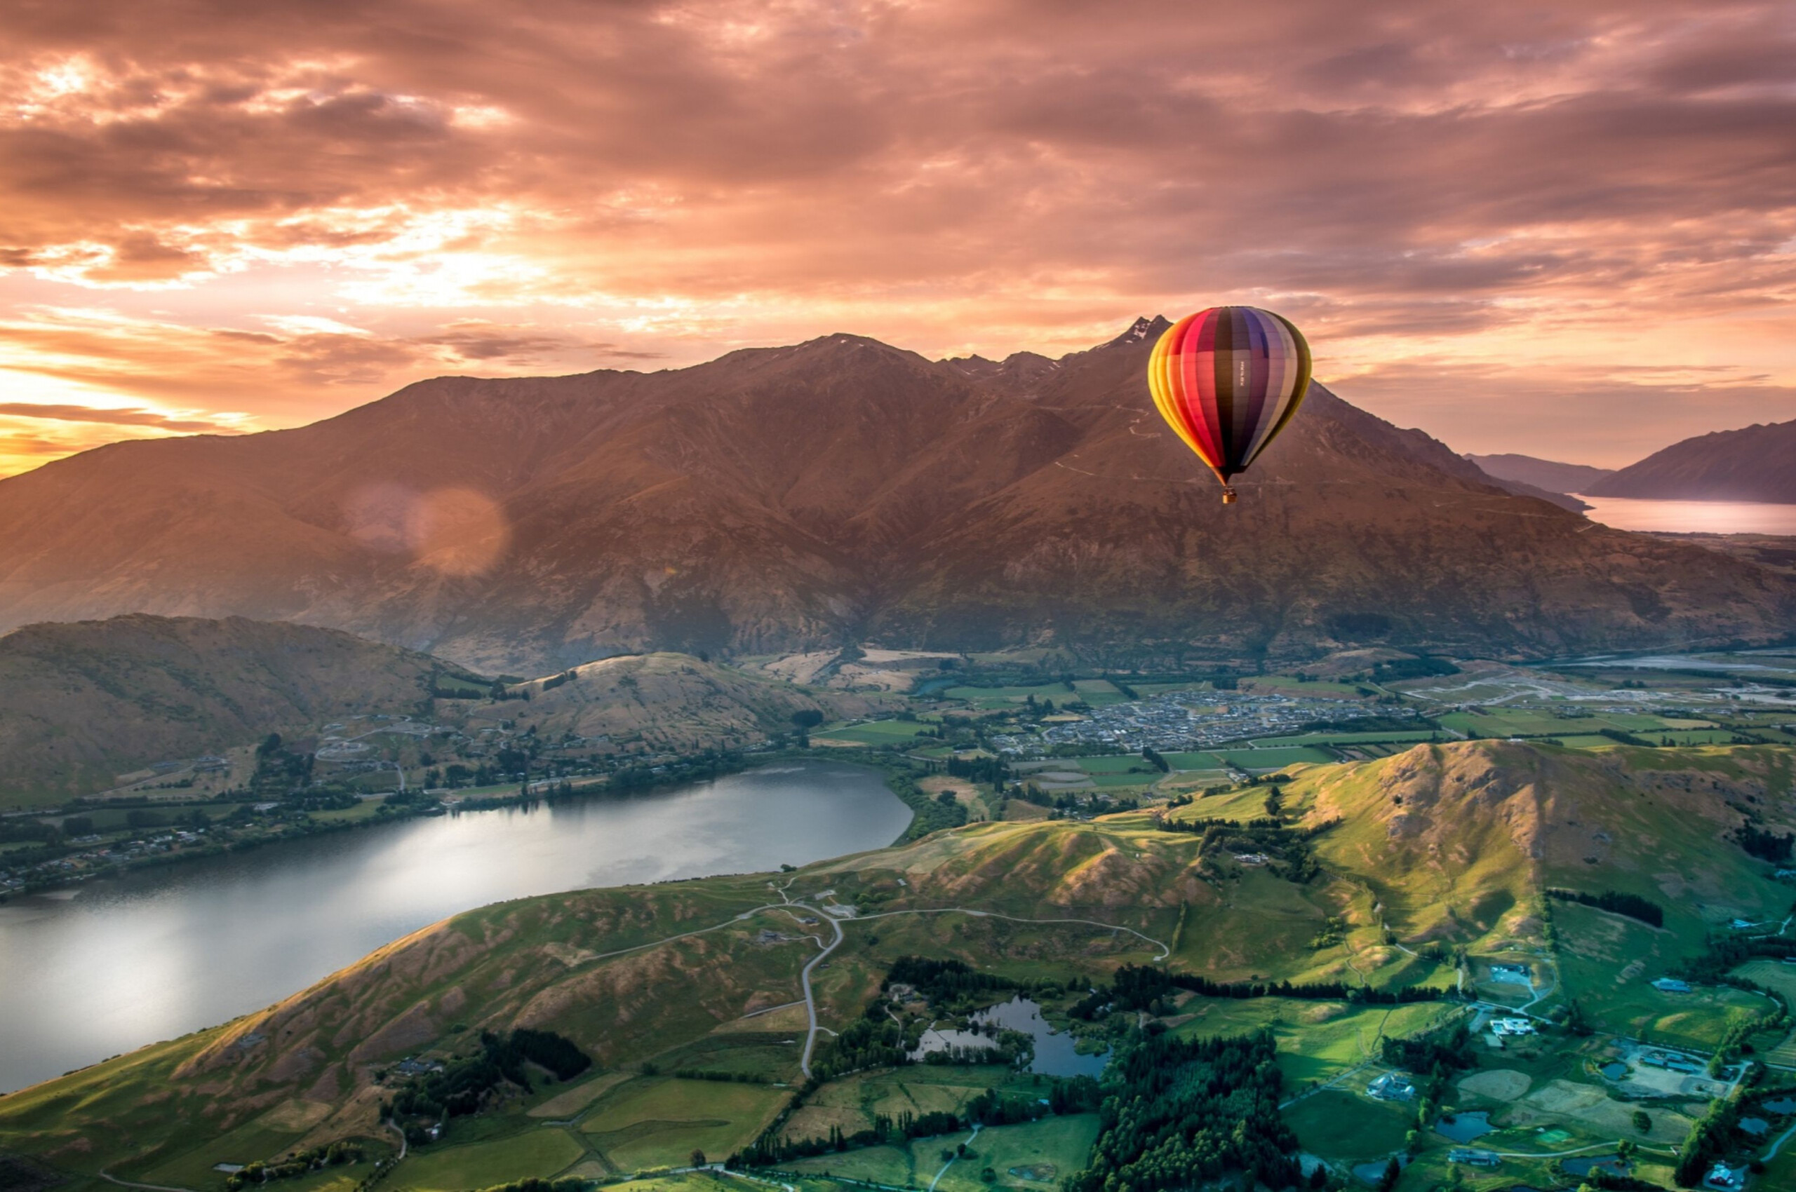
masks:
[(1065, 1192), (1193, 1188), (1228, 1172), (1245, 1172), (1250, 1187), (1297, 1185), (1299, 1144), (1279, 1117), (1275, 1061), (1270, 1030), (1130, 1039), (1105, 1077), (1110, 1097), (1090, 1165), (1067, 1178)]

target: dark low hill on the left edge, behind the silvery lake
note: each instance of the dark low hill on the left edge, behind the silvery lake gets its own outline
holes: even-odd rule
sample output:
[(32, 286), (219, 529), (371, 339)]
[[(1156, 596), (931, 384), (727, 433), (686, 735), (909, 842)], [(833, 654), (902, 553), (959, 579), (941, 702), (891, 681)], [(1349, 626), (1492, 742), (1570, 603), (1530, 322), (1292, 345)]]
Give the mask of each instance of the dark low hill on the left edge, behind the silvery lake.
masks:
[(438, 659), (338, 630), (120, 616), (0, 635), (0, 801), (56, 802), (126, 770), (275, 731), (427, 707)]

